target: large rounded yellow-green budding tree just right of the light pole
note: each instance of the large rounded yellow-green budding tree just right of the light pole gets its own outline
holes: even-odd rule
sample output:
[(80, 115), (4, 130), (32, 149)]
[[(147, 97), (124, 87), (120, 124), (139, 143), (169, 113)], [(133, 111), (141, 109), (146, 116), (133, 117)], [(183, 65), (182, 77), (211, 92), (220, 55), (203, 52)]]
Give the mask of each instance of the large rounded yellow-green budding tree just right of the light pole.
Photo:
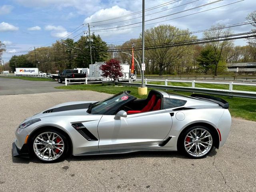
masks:
[(180, 30), (171, 25), (160, 25), (145, 31), (145, 46), (154, 47), (160, 45), (159, 48), (147, 50), (145, 55), (152, 62), (158, 64), (159, 75), (162, 75), (166, 68), (171, 67), (174, 69), (178, 60), (189, 54), (192, 49), (192, 46), (171, 46), (171, 44), (193, 39), (196, 39), (196, 37), (191, 36), (188, 30)]

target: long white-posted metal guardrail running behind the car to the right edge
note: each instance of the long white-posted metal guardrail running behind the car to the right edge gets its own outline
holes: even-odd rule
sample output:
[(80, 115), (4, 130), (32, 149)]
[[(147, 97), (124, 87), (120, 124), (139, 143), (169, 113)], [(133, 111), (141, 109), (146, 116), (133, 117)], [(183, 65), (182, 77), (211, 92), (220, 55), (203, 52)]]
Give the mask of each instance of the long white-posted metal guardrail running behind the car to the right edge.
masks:
[[(164, 81), (165, 85), (156, 85), (156, 84), (148, 84), (149, 81)], [(183, 87), (183, 86), (169, 86), (168, 82), (190, 82), (191, 87)], [(102, 83), (109, 83), (108, 81), (104, 81)], [(126, 85), (126, 86), (136, 86), (140, 87), (141, 84), (138, 83), (131, 83), (131, 82), (118, 82), (119, 84)], [(229, 89), (210, 89), (210, 88), (196, 88), (196, 83), (202, 84), (226, 84), (229, 85)], [(204, 93), (204, 94), (214, 94), (214, 95), (222, 95), (222, 96), (230, 96), (230, 97), (242, 97), (242, 98), (253, 98), (256, 99), (256, 92), (249, 92), (249, 91), (237, 91), (233, 90), (233, 85), (240, 85), (240, 86), (256, 86), (256, 84), (247, 84), (247, 83), (234, 83), (234, 82), (204, 82), (204, 81), (195, 81), (195, 80), (149, 80), (145, 79), (145, 85), (148, 88), (155, 88), (155, 89), (164, 89), (164, 90), (174, 90), (174, 91), (184, 91), (184, 92), (197, 92), (197, 93)]]

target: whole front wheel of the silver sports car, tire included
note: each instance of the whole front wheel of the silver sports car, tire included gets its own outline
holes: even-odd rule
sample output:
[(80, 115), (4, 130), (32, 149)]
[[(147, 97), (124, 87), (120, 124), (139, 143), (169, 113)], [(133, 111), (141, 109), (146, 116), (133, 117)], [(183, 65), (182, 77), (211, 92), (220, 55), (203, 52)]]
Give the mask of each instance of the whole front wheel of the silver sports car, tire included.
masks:
[(54, 129), (37, 132), (30, 143), (30, 151), (44, 162), (57, 162), (68, 153), (68, 140), (64, 134)]

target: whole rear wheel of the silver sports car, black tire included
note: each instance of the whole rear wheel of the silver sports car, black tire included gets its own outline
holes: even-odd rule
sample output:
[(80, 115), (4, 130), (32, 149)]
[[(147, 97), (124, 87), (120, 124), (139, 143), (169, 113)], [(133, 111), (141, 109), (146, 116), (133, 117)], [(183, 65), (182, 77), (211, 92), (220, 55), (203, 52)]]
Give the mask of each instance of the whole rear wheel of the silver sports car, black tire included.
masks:
[[(204, 133), (204, 131), (206, 132)], [(196, 134), (193, 134), (192, 136), (192, 132)], [(204, 134), (202, 135), (202, 133)], [(207, 137), (204, 138), (205, 136)], [(192, 137), (195, 137), (196, 139)], [(190, 158), (203, 158), (211, 152), (213, 147), (214, 134), (211, 129), (205, 126), (190, 127), (182, 132), (178, 138), (178, 151)], [(196, 153), (192, 153), (192, 151), (196, 151)]]

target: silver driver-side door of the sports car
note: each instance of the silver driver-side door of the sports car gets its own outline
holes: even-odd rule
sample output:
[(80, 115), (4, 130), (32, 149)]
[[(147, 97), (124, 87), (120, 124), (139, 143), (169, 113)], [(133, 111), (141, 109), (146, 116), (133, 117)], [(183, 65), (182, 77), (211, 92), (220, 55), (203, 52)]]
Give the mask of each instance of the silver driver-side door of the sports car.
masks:
[(98, 124), (99, 149), (150, 146), (166, 138), (172, 118), (166, 110), (129, 114), (115, 120), (114, 115), (103, 115)]

